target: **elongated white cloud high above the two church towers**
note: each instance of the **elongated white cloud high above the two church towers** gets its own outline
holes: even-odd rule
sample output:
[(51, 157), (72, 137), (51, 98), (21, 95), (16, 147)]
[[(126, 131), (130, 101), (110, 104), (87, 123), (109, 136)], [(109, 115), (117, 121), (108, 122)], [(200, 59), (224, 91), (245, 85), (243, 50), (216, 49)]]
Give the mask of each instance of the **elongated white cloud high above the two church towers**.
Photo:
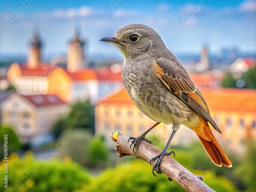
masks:
[(93, 10), (90, 7), (80, 7), (78, 9), (67, 9), (67, 10), (63, 10), (63, 9), (57, 9), (52, 13), (53, 17), (57, 17), (57, 18), (73, 18), (73, 17), (84, 17), (84, 16), (89, 16), (93, 14)]

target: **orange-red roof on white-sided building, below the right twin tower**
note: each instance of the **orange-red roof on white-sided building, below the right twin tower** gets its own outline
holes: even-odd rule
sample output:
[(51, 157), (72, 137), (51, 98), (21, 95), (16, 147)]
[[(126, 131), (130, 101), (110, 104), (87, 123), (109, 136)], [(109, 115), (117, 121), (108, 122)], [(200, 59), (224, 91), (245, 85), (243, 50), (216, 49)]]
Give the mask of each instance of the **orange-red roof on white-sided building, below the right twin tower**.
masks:
[(65, 72), (74, 81), (97, 80), (97, 76), (96, 76), (95, 71), (93, 69), (82, 69), (82, 70), (79, 70), (77, 72), (72, 72), (72, 73), (65, 70)]

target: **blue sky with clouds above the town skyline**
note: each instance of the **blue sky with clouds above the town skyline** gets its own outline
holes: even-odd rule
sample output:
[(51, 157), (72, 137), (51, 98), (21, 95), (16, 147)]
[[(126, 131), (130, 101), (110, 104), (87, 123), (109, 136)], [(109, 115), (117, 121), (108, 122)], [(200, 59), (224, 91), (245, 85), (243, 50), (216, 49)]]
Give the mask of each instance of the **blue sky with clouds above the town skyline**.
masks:
[[(13, 12), (17, 12), (15, 15)], [(88, 54), (120, 54), (99, 42), (128, 24), (155, 29), (174, 53), (212, 53), (223, 47), (256, 50), (256, 1), (0, 1), (0, 54), (26, 54), (33, 26), (44, 39), (44, 53), (65, 52), (80, 26)]]

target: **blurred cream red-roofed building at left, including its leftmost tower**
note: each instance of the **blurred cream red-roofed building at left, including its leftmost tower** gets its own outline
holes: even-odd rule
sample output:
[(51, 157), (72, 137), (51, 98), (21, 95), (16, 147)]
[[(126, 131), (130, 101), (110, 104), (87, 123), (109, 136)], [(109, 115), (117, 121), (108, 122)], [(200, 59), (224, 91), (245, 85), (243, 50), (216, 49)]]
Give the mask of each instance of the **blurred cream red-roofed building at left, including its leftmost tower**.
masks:
[(7, 72), (9, 82), (19, 94), (38, 95), (48, 92), (47, 76), (56, 66), (42, 62), (41, 47), (42, 42), (36, 33), (30, 42), (27, 63), (19, 65), (14, 62)]

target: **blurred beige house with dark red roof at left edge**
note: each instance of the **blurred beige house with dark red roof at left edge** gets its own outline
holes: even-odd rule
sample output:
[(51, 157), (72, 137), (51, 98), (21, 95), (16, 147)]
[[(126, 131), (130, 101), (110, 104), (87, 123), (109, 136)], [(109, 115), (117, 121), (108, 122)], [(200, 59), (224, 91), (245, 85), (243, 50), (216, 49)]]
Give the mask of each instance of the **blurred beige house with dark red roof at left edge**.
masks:
[(39, 145), (52, 138), (54, 122), (69, 111), (56, 95), (23, 96), (12, 93), (1, 105), (2, 123), (11, 125), (23, 142)]

